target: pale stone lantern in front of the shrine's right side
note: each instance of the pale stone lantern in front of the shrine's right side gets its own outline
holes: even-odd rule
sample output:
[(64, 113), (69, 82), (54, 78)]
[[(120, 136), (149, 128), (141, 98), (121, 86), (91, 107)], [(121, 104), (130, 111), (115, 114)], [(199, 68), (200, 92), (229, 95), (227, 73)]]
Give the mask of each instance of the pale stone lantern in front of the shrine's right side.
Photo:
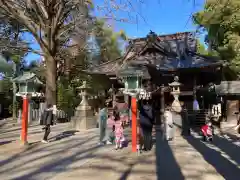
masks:
[(182, 107), (181, 107), (181, 104), (180, 104), (178, 98), (179, 98), (179, 95), (180, 95), (181, 83), (179, 83), (178, 81), (179, 81), (178, 76), (175, 76), (174, 77), (174, 82), (169, 83), (169, 86), (171, 87), (171, 90), (172, 90), (171, 94), (174, 97), (174, 100), (173, 100), (173, 103), (172, 103), (172, 110), (177, 112), (177, 113), (180, 113), (182, 111)]

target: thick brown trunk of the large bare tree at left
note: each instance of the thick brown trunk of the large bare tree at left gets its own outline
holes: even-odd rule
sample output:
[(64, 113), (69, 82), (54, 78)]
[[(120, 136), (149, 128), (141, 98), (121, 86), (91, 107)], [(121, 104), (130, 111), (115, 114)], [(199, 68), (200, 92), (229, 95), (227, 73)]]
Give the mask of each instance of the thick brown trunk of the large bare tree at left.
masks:
[(57, 104), (57, 63), (53, 56), (46, 58), (46, 102), (47, 104)]

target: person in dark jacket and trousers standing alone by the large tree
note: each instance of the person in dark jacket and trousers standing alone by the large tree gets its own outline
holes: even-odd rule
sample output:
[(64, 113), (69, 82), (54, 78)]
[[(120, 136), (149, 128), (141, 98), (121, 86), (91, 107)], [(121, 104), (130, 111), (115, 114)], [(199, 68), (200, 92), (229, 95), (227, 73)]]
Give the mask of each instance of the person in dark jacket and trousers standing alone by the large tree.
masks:
[(41, 122), (40, 125), (44, 125), (45, 127), (43, 128), (45, 130), (44, 136), (43, 136), (43, 143), (48, 143), (48, 135), (51, 132), (50, 126), (53, 125), (53, 107), (51, 104), (47, 105), (47, 108), (44, 110), (42, 117), (41, 117)]

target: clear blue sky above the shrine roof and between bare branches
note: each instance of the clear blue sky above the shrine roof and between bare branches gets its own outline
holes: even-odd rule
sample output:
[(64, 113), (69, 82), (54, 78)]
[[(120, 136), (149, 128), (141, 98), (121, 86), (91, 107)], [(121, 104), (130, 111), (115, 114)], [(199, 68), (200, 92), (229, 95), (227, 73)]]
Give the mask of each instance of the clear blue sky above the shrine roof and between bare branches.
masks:
[[(203, 9), (204, 5), (204, 0), (196, 0), (197, 4), (193, 4), (194, 0), (142, 0), (145, 1), (144, 4), (136, 3), (140, 0), (130, 1), (134, 7), (130, 12), (131, 18), (129, 18), (128, 15), (129, 11), (117, 11), (114, 12), (114, 15), (130, 21), (132, 19), (135, 22), (120, 23), (113, 20), (109, 21), (109, 24), (114, 27), (116, 31), (124, 30), (130, 38), (144, 37), (150, 30), (157, 34), (195, 31), (196, 27), (192, 24), (190, 16), (194, 12)], [(95, 6), (104, 6), (104, 0), (94, 0), (93, 2)], [(106, 11), (95, 10), (94, 14), (104, 16), (105, 12)], [(138, 19), (137, 23), (136, 17)], [(28, 41), (33, 41), (33, 38), (29, 34), (26, 34), (24, 38)], [(39, 46), (33, 43), (33, 48), (39, 49)], [(36, 59), (40, 59), (36, 54), (29, 54), (26, 57), (28, 62)]]

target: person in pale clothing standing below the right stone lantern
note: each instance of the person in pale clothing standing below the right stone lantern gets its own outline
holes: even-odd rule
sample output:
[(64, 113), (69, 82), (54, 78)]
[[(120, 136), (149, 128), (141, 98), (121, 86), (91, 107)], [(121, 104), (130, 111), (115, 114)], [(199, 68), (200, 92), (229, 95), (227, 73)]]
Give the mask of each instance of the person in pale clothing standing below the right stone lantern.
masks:
[(165, 126), (165, 138), (167, 141), (171, 141), (174, 138), (174, 124), (173, 115), (170, 107), (167, 107), (164, 112), (164, 126)]

